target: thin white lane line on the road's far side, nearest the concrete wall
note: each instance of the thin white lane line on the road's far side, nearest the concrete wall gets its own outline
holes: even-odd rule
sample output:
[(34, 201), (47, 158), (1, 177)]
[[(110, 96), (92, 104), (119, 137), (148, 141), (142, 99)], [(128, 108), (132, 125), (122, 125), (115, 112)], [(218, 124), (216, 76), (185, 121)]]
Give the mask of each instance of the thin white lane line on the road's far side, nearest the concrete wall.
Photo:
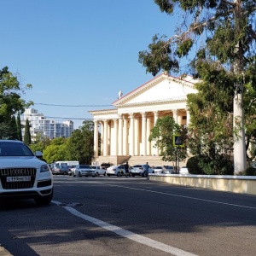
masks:
[(119, 188), (125, 188), (125, 189), (147, 191), (147, 192), (150, 192), (150, 193), (161, 194), (161, 195), (172, 195), (172, 196), (177, 196), (177, 197), (182, 197), (182, 198), (187, 198), (187, 199), (192, 199), (192, 200), (197, 200), (197, 201), (207, 201), (207, 202), (212, 202), (212, 203), (220, 204), (220, 205), (226, 205), (226, 206), (230, 206), (230, 207), (241, 207), (241, 208), (248, 208), (248, 209), (256, 210), (256, 207), (247, 207), (247, 206), (243, 206), (243, 205), (225, 203), (225, 202), (222, 202), (222, 201), (212, 201), (212, 200), (201, 199), (201, 198), (187, 196), (187, 195), (176, 195), (176, 194), (171, 194), (171, 193), (166, 193), (166, 192), (159, 192), (159, 191), (154, 191), (154, 190), (149, 190), (149, 189), (137, 189), (137, 188), (120, 186), (120, 185), (112, 185), (112, 184), (105, 184), (105, 185), (108, 185), (110, 187), (119, 187)]

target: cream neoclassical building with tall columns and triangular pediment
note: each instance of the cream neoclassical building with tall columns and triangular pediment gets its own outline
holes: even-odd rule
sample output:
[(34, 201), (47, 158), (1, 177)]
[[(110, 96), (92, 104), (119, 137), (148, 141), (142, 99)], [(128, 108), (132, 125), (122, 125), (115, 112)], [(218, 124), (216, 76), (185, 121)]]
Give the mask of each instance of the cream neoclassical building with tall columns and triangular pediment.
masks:
[(118, 159), (132, 156), (159, 155), (154, 143), (148, 142), (150, 130), (158, 118), (166, 115), (180, 125), (188, 125), (187, 94), (197, 92), (196, 82), (189, 76), (180, 79), (161, 73), (124, 96), (119, 93), (113, 109), (89, 111), (95, 124), (94, 161), (100, 163), (111, 157), (119, 163)]

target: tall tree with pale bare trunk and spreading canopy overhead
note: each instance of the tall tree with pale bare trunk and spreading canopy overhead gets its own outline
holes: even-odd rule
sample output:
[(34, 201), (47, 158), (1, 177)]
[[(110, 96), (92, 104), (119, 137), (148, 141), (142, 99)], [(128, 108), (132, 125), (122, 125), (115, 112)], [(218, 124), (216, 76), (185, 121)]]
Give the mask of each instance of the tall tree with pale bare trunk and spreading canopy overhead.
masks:
[[(233, 74), (233, 136), (235, 173), (246, 167), (244, 131), (244, 73), (255, 57), (256, 2), (254, 0), (154, 0), (161, 12), (183, 12), (183, 26), (166, 38), (154, 36), (148, 50), (139, 52), (139, 62), (153, 75), (164, 70), (177, 73), (180, 59), (195, 50), (194, 67), (201, 61), (218, 61)], [(180, 12), (179, 12), (180, 13)], [(189, 23), (189, 24), (188, 24)], [(184, 28), (184, 29), (183, 29)], [(205, 32), (205, 33), (204, 33)], [(197, 40), (205, 45), (195, 49)]]

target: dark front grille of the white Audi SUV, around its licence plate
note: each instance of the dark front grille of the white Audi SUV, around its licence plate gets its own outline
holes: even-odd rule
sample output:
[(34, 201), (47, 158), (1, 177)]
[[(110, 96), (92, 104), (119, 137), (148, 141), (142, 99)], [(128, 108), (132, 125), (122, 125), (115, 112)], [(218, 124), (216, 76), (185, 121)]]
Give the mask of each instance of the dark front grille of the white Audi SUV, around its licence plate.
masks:
[[(0, 177), (3, 189), (29, 189), (32, 188), (36, 179), (36, 168), (9, 168), (0, 169)], [(7, 182), (7, 177), (30, 176), (30, 181)]]

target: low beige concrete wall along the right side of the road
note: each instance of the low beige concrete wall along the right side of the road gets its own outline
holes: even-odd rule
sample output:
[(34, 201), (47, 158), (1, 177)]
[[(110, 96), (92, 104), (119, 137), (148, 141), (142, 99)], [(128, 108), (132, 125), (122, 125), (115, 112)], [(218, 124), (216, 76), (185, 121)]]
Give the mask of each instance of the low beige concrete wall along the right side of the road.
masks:
[(255, 176), (149, 174), (150, 181), (256, 195)]

